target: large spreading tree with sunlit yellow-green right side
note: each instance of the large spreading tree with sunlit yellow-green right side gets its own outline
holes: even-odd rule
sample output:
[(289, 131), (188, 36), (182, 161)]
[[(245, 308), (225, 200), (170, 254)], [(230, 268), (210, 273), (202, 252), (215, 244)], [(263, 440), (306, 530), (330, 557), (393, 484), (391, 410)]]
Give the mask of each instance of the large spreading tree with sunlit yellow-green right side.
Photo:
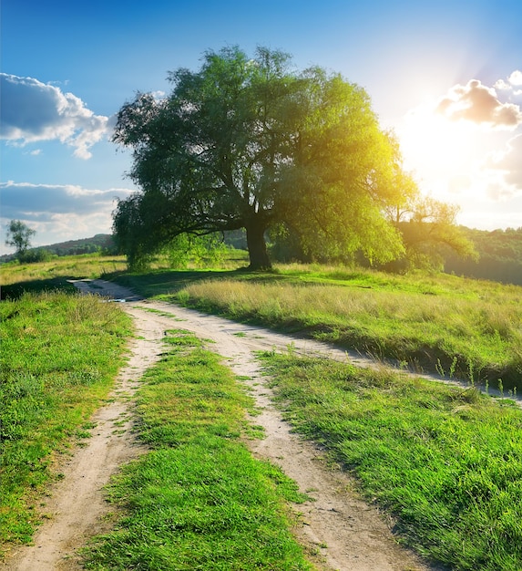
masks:
[(169, 97), (138, 93), (118, 113), (113, 140), (140, 188), (114, 213), (131, 264), (179, 234), (245, 228), (251, 268), (267, 268), (265, 233), (281, 223), (302, 244), (402, 252), (383, 214), (402, 192), (397, 149), (363, 88), (266, 48), (210, 51), (169, 80)]

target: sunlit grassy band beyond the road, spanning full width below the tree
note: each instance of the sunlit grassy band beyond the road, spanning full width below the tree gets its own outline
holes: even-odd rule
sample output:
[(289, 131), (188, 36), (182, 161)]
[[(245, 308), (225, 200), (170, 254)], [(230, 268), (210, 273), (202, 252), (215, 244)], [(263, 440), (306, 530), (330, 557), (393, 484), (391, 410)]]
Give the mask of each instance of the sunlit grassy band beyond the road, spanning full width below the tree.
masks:
[[(117, 279), (159, 296), (242, 321), (284, 328), (347, 348), (473, 382), (522, 389), (522, 288), (455, 275), (389, 275), (363, 268), (277, 265), (237, 271), (246, 253), (231, 251), (226, 269), (171, 271), (158, 258), (144, 274), (123, 257), (68, 256), (0, 270), (3, 296), (23, 289), (69, 287), (67, 277)], [(11, 291), (9, 288), (12, 287)]]

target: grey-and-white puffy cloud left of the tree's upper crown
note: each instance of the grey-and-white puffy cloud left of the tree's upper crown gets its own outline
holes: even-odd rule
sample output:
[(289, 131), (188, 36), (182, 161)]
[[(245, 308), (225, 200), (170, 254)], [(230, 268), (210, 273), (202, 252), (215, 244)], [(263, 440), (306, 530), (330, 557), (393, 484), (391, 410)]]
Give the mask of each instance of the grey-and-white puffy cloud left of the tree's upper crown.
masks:
[(35, 78), (0, 74), (2, 139), (15, 144), (59, 140), (80, 159), (108, 132), (108, 118), (95, 115), (72, 93)]

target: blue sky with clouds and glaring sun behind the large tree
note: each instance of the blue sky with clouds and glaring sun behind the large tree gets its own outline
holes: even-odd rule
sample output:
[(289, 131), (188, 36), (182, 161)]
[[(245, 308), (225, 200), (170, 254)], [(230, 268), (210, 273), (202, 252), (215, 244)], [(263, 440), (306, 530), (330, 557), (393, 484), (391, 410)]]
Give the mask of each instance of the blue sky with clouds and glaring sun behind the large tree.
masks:
[(137, 190), (110, 141), (118, 110), (230, 46), (341, 73), (457, 223), (522, 227), (520, 0), (2, 0), (0, 20), (3, 254), (10, 220), (35, 246), (109, 234)]

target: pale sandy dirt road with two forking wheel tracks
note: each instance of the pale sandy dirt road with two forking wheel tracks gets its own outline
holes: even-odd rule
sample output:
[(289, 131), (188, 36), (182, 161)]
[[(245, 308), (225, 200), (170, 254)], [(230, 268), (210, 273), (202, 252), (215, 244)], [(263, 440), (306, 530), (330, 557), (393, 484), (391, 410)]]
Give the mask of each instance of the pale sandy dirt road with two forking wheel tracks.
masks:
[(261, 424), (266, 433), (263, 440), (250, 442), (251, 451), (280, 465), (301, 491), (311, 496), (312, 501), (297, 507), (303, 524), (296, 533), (313, 554), (311, 558), (318, 568), (433, 571), (434, 567), (425, 565), (396, 543), (391, 532), (393, 522), (358, 497), (353, 481), (345, 473), (327, 466), (320, 450), (292, 434), (290, 425), (271, 403), (271, 389), (265, 384), (254, 352), (292, 346), (296, 351), (325, 358), (353, 358), (363, 366), (369, 366), (368, 361), (310, 340), (243, 326), (166, 303), (140, 300), (106, 282), (85, 280), (76, 285), (86, 293), (125, 301), (123, 307), (135, 319), (137, 338), (131, 341), (128, 366), (118, 377), (113, 400), (98, 410), (93, 419), (97, 424), (92, 437), (61, 470), (64, 477), (48, 498), (44, 508), (48, 519), (39, 528), (34, 545), (18, 548), (3, 568), (18, 571), (82, 568), (78, 548), (92, 535), (107, 531), (113, 521), (110, 506), (103, 499), (103, 486), (119, 465), (144, 452), (131, 432), (130, 403), (139, 378), (159, 358), (165, 331), (184, 328), (210, 339), (210, 349), (219, 353), (237, 375), (248, 379), (243, 382), (249, 385), (261, 409), (261, 416), (252, 421)]

